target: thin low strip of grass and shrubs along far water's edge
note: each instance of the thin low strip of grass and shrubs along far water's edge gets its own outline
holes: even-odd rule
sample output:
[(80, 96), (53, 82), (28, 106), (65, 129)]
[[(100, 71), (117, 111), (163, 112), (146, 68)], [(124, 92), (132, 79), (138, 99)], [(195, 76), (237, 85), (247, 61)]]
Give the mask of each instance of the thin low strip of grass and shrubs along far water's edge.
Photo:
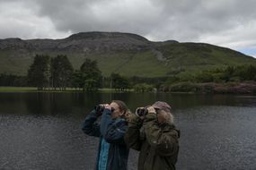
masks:
[[(190, 84), (191, 85), (191, 84)], [(186, 86), (186, 85), (185, 85)], [(36, 93), (68, 93), (68, 92), (77, 92), (77, 93), (91, 93), (91, 92), (106, 92), (106, 93), (170, 93), (170, 94), (201, 94), (201, 95), (209, 95), (209, 94), (229, 94), (229, 95), (256, 95), (256, 82), (241, 82), (241, 83), (193, 83), (190, 89), (184, 90), (184, 86), (178, 89), (168, 89), (168, 90), (157, 90), (153, 92), (137, 92), (134, 89), (126, 89), (126, 90), (115, 90), (110, 88), (102, 88), (96, 91), (84, 91), (83, 89), (75, 89), (75, 88), (66, 88), (66, 90), (62, 89), (44, 89), (38, 90), (35, 87), (6, 87), (0, 86), (1, 93), (12, 93), (12, 92), (36, 92)]]

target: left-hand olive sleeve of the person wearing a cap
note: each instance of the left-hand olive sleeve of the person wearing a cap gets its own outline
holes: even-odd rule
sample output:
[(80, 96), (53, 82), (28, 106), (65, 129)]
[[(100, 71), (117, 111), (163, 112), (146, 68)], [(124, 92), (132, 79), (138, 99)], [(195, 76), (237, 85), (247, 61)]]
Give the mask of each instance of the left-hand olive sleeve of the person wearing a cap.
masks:
[(129, 148), (140, 150), (140, 128), (142, 126), (142, 120), (135, 114), (130, 115), (128, 119), (128, 131), (125, 134), (125, 141)]

